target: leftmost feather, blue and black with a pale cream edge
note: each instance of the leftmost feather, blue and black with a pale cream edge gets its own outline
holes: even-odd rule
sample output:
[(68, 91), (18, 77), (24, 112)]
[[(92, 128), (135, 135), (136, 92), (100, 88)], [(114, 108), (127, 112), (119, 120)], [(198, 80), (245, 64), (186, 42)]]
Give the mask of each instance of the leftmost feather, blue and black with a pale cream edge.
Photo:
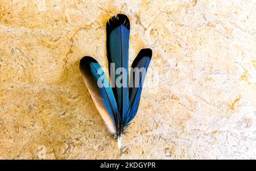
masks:
[(83, 57), (80, 61), (80, 71), (89, 93), (100, 112), (110, 133), (117, 134), (118, 109), (112, 88), (100, 64), (92, 57)]

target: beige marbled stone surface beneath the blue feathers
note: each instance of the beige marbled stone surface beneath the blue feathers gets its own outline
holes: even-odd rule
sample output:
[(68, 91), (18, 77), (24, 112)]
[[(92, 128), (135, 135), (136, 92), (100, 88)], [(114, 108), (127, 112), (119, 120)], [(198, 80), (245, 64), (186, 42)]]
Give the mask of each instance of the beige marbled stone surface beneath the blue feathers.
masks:
[[(255, 4), (0, 1), (0, 159), (256, 159)], [(119, 12), (158, 73), (121, 150), (79, 71)]]

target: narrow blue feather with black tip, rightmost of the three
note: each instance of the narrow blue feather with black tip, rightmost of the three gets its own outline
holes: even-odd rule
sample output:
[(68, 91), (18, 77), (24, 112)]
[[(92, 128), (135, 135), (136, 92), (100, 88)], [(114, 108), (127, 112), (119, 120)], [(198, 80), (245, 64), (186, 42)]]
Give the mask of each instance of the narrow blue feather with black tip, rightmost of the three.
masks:
[(137, 114), (139, 101), (141, 99), (143, 82), (146, 77), (147, 69), (152, 57), (151, 49), (142, 49), (131, 65), (129, 98), (130, 110), (127, 118), (124, 120), (125, 126), (130, 124), (131, 120)]

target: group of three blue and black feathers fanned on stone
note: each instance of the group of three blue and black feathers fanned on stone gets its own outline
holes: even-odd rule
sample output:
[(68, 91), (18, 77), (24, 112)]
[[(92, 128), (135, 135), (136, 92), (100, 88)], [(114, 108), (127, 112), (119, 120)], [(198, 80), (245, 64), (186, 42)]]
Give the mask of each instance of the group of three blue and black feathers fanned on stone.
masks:
[[(130, 21), (126, 15), (118, 14), (113, 16), (106, 23), (106, 49), (109, 64), (114, 63), (115, 68), (126, 69), (127, 80), (122, 82), (129, 83), (129, 37)], [(142, 49), (133, 61), (131, 68), (144, 68), (139, 74), (139, 78), (131, 77), (130, 85), (121, 87), (110, 86), (108, 77), (104, 72), (98, 73), (101, 69), (100, 64), (92, 57), (85, 56), (80, 61), (80, 71), (84, 78), (85, 85), (95, 103), (97, 110), (100, 112), (108, 130), (114, 137), (118, 138), (118, 146), (121, 147), (121, 136), (125, 128), (129, 126), (134, 116), (137, 114), (139, 101), (141, 99), (144, 76), (150, 64), (152, 57), (151, 49)], [(114, 72), (115, 73), (115, 72)], [(114, 81), (121, 76), (114, 74)], [(134, 74), (134, 73), (131, 73)], [(133, 79), (133, 80), (131, 80)], [(135, 86), (135, 79), (139, 80), (139, 86)], [(98, 81), (103, 86), (98, 86)], [(111, 85), (115, 82), (110, 82)], [(108, 85), (108, 86), (106, 86)]]

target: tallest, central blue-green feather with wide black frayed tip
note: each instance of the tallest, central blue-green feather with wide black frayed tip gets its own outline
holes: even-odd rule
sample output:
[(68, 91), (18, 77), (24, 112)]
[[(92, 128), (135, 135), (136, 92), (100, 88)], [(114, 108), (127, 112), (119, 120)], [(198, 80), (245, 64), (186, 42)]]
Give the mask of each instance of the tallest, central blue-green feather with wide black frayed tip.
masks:
[[(106, 24), (107, 56), (109, 61), (109, 73), (118, 111), (121, 119), (129, 109), (129, 36), (130, 21), (126, 15), (118, 14), (109, 19)], [(115, 64), (116, 72), (122, 69), (120, 74), (115, 73), (111, 64)], [(120, 71), (120, 70), (119, 70)], [(121, 78), (121, 79), (120, 79)], [(121, 81), (120, 81), (121, 80)], [(117, 85), (118, 82), (122, 86)]]

